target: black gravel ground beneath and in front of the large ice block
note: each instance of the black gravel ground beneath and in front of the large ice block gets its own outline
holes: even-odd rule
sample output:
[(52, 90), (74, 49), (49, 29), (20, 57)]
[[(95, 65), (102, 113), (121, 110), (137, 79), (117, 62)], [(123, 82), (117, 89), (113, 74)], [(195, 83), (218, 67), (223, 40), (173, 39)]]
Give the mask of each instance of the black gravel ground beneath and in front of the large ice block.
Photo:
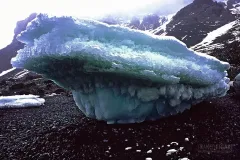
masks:
[[(240, 98), (235, 93), (176, 116), (127, 125), (86, 118), (68, 94), (44, 98), (39, 108), (0, 110), (1, 160), (240, 159)], [(167, 156), (169, 149), (177, 152)]]

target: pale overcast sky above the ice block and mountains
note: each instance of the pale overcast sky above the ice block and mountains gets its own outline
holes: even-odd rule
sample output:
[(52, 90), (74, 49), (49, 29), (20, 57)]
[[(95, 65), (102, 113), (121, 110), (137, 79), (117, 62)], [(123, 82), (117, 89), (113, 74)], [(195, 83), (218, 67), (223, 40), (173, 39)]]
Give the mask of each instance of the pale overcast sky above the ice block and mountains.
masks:
[(133, 15), (155, 10), (172, 13), (182, 8), (186, 1), (189, 0), (2, 0), (0, 49), (12, 41), (16, 22), (33, 12), (78, 17), (96, 17), (113, 12)]

